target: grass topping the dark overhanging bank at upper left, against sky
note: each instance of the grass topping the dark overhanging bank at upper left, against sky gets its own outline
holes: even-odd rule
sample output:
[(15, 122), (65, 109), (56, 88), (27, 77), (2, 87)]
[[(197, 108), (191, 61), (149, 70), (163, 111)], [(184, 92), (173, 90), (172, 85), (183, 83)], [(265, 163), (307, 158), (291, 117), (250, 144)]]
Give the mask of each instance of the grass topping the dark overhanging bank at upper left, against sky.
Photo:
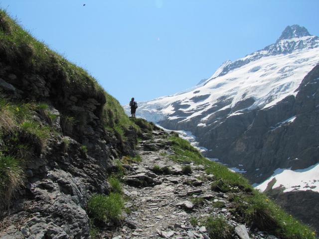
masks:
[[(50, 50), (22, 29), (4, 10), (0, 10), (0, 51), (3, 60), (43, 75), (51, 72), (60, 86), (74, 94), (104, 98), (101, 86), (85, 70)], [(68, 88), (68, 89), (67, 89)], [(62, 89), (62, 88), (61, 88)]]

